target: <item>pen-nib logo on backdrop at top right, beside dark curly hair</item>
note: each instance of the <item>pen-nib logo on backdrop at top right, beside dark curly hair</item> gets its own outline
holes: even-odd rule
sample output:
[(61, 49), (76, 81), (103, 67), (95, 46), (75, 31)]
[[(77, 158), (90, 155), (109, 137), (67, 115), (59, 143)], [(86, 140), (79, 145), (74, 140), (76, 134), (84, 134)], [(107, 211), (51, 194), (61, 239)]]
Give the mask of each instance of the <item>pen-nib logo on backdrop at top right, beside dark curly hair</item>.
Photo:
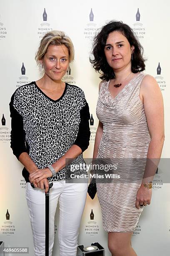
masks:
[(143, 39), (145, 38), (145, 35), (146, 35), (146, 28), (143, 25), (143, 23), (140, 22), (141, 16), (142, 15), (140, 15), (139, 8), (138, 8), (136, 13), (136, 20), (135, 20), (136, 22), (133, 23), (133, 32), (135, 33), (135, 36), (138, 39)]

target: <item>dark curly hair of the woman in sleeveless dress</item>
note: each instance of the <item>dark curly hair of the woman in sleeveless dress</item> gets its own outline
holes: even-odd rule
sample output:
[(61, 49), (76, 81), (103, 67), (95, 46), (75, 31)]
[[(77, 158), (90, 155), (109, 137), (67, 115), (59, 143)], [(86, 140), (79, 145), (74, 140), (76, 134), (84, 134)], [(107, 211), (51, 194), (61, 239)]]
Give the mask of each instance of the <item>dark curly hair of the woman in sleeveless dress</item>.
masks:
[(133, 30), (122, 21), (111, 20), (105, 26), (103, 26), (100, 32), (95, 36), (93, 42), (93, 57), (90, 57), (90, 62), (95, 71), (98, 71), (102, 80), (109, 81), (115, 78), (115, 73), (113, 69), (107, 63), (104, 48), (108, 35), (113, 31), (120, 31), (123, 36), (125, 36), (130, 46), (134, 46), (133, 60), (131, 61), (131, 70), (133, 73), (145, 70), (145, 59), (143, 58), (143, 47), (140, 45), (139, 41), (135, 38)]

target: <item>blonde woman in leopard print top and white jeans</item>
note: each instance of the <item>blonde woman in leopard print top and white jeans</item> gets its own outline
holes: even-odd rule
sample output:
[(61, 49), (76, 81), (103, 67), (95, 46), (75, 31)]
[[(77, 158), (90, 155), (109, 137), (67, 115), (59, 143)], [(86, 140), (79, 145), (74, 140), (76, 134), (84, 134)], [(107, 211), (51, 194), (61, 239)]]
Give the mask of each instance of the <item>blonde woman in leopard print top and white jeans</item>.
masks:
[[(18, 88), (10, 102), (11, 148), (25, 166), (35, 256), (45, 255), (45, 192), (50, 189), (49, 255), (54, 242), (54, 217), (60, 204), (60, 256), (75, 256), (87, 183), (65, 182), (65, 160), (83, 161), (89, 145), (89, 108), (83, 91), (61, 79), (74, 59), (72, 41), (62, 31), (42, 38), (35, 59), (41, 79)], [(30, 186), (34, 184), (35, 189)], [(78, 202), (78, 203), (77, 203)]]

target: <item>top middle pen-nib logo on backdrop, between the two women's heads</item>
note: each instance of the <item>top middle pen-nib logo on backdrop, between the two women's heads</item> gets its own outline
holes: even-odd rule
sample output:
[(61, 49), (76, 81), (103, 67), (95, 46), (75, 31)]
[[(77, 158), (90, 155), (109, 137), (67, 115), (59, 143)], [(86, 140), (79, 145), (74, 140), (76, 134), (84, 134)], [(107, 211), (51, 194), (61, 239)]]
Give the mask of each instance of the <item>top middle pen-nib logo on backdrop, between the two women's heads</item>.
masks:
[(95, 16), (91, 8), (90, 14), (88, 16), (88, 23), (85, 25), (85, 28), (84, 28), (85, 39), (92, 40), (95, 36), (95, 32), (97, 30), (96, 28), (97, 24), (94, 22), (94, 20), (95, 20)]

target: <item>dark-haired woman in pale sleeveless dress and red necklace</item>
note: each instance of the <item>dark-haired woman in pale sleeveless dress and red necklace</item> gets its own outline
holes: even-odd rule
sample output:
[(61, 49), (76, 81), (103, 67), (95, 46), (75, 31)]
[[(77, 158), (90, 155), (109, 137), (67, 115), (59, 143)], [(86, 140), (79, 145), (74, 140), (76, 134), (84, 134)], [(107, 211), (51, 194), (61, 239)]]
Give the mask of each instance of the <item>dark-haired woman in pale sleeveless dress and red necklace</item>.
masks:
[(164, 142), (163, 97), (155, 79), (142, 72), (142, 54), (131, 28), (111, 21), (95, 37), (94, 59), (90, 60), (102, 79), (93, 159), (122, 159), (120, 182), (97, 183), (112, 256), (137, 255), (131, 236), (144, 206), (150, 205), (152, 180)]

